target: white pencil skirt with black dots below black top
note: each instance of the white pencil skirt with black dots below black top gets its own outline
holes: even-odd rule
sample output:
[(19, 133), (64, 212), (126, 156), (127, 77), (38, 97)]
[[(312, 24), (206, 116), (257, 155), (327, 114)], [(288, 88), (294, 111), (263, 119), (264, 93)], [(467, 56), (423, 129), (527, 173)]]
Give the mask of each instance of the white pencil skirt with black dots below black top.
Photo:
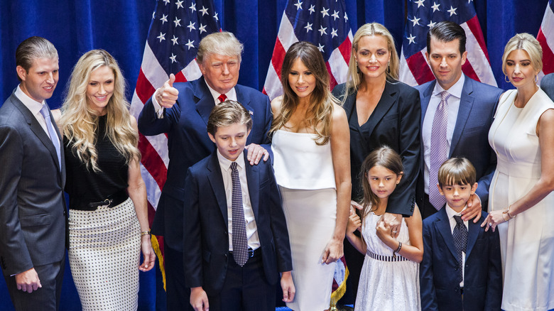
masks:
[(141, 226), (133, 201), (95, 211), (70, 209), (71, 274), (82, 310), (136, 310)]

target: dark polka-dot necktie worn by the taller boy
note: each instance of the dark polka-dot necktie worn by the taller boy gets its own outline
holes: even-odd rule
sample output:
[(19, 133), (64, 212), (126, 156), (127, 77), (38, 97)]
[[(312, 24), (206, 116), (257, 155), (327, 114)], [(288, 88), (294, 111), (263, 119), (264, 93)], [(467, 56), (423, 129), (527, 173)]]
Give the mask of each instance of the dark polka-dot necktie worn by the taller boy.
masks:
[(231, 180), (233, 182), (231, 200), (233, 258), (239, 266), (244, 266), (244, 263), (248, 261), (248, 239), (246, 239), (246, 220), (244, 219), (241, 181), (239, 170), (237, 170), (237, 162), (231, 163)]

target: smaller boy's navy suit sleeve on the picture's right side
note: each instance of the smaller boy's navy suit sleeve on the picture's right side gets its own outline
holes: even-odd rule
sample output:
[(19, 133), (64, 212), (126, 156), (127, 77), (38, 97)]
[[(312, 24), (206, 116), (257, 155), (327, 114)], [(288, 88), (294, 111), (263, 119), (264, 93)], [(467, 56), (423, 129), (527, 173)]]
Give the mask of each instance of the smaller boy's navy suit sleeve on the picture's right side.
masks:
[(488, 232), (489, 274), (487, 275), (487, 295), (484, 310), (500, 310), (502, 302), (502, 261), (498, 230)]

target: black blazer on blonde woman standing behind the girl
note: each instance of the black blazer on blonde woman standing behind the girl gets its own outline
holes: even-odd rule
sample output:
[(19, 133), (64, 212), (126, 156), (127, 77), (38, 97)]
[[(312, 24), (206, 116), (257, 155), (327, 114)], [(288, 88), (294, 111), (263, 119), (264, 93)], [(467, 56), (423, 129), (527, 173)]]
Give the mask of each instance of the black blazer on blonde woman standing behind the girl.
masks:
[[(344, 98), (345, 84), (333, 89), (333, 95)], [(369, 153), (381, 146), (389, 146), (401, 155), (403, 178), (389, 198), (386, 211), (411, 216), (415, 204), (415, 182), (419, 172), (421, 107), (416, 89), (402, 82), (387, 80), (383, 94), (369, 119), (358, 126), (356, 96), (353, 92), (344, 102), (344, 111), (350, 127), (350, 163), (352, 170), (352, 198), (362, 197), (361, 165)], [(359, 137), (357, 141), (354, 137)]]

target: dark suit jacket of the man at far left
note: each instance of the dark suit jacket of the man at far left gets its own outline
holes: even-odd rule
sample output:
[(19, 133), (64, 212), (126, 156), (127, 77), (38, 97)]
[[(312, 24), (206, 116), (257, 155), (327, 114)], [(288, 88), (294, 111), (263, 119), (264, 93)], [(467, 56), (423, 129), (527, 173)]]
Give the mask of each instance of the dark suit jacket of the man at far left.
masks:
[[(52, 115), (50, 118), (55, 124)], [(58, 133), (60, 148), (63, 148)], [(65, 160), (15, 94), (0, 108), (0, 264), (13, 275), (61, 261), (67, 242)], [(45, 286), (47, 284), (43, 284)]]

